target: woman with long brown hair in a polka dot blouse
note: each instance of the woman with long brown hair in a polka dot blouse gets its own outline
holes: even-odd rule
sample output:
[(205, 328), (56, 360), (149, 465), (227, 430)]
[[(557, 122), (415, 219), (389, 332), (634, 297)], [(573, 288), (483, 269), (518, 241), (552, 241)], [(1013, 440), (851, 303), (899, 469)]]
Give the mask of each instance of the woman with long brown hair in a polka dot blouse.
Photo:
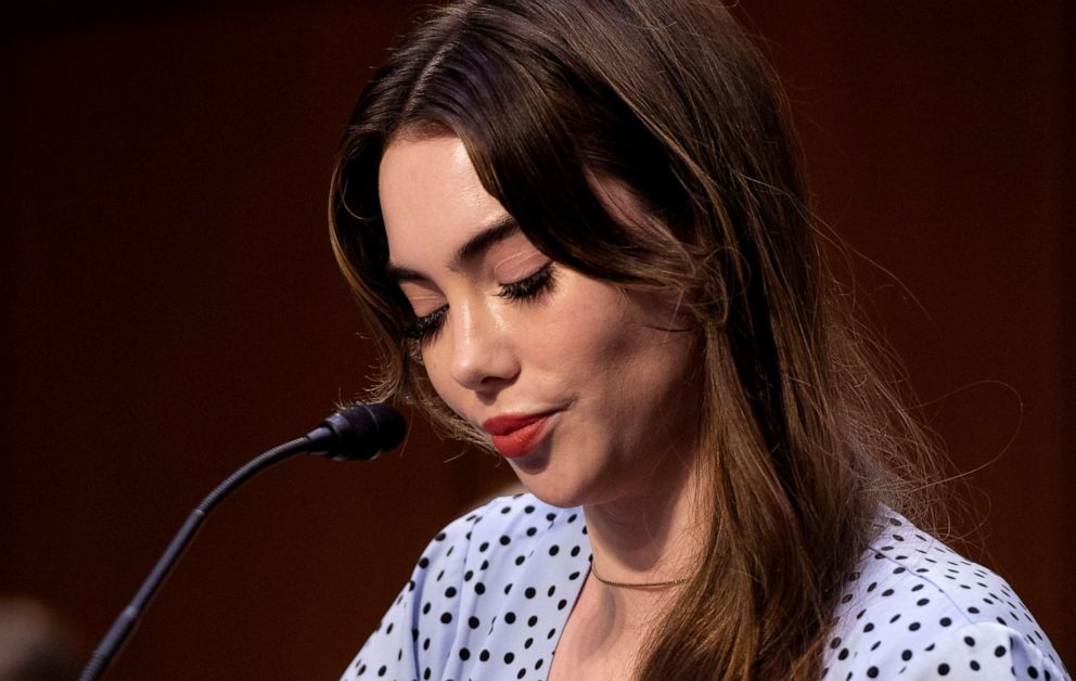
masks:
[(458, 2), (374, 76), (331, 211), (381, 397), (530, 493), (446, 527), (345, 678), (1067, 678), (897, 513), (928, 447), (785, 115), (697, 0)]

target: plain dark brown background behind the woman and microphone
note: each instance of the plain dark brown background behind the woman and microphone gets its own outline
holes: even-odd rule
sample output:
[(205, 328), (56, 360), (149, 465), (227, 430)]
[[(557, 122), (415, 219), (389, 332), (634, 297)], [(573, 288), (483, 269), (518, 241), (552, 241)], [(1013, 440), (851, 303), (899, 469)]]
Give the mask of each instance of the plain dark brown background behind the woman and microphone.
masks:
[[(325, 192), (411, 13), (154, 7), (4, 20), (0, 594), (42, 599), (88, 642), (205, 492), (366, 385)], [(958, 530), (1074, 664), (1073, 7), (742, 9), (786, 80), (821, 214), (864, 256), (860, 296), (975, 472), (977, 526)], [(335, 678), (426, 539), (505, 479), (458, 451), (417, 425), (375, 464), (257, 478), (111, 678)]]

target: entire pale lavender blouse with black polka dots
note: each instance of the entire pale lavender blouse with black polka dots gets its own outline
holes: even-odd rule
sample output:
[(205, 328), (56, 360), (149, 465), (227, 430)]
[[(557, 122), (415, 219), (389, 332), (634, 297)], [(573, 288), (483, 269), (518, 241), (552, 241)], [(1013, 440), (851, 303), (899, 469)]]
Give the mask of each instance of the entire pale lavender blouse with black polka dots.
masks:
[[(426, 547), (343, 679), (545, 679), (589, 568), (581, 510), (495, 499)], [(1071, 681), (1009, 584), (897, 514), (836, 615), (823, 679)]]

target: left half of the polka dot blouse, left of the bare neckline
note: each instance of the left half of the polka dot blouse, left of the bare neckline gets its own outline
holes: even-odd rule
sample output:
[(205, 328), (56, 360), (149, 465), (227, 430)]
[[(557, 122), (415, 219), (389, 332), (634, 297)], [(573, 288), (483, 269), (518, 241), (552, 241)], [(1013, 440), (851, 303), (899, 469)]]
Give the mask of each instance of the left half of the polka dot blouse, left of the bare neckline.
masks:
[(494, 499), (426, 545), (344, 678), (467, 678), (491, 658), (548, 664), (546, 646), (516, 650), (510, 629), (540, 625), (552, 645), (589, 557), (581, 510), (530, 494)]

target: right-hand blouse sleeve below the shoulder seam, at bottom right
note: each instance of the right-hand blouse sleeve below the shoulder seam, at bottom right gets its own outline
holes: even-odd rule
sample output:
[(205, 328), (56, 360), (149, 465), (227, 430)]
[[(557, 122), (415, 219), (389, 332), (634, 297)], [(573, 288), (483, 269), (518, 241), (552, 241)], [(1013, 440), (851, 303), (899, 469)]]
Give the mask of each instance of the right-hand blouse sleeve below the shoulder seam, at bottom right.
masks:
[[(975, 622), (947, 630), (920, 650), (896, 646), (900, 678), (919, 679), (1017, 679), (1019, 681), (1071, 681), (1053, 655), (1042, 652), (1030, 635), (996, 622)], [(872, 677), (873, 672), (873, 677)], [(867, 670), (869, 678), (879, 668)]]

